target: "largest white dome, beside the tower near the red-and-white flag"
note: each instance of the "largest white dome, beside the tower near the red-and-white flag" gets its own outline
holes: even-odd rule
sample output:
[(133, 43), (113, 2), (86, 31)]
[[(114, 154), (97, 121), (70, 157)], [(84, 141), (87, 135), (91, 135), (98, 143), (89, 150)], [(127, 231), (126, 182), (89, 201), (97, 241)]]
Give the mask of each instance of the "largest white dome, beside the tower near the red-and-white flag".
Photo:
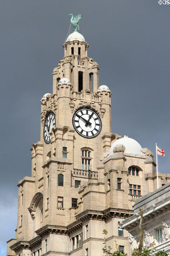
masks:
[(141, 145), (131, 138), (128, 138), (127, 136), (124, 136), (123, 138), (116, 140), (109, 150), (109, 157), (113, 155), (113, 148), (117, 145), (124, 145), (125, 146), (125, 154), (138, 154), (141, 155)]

